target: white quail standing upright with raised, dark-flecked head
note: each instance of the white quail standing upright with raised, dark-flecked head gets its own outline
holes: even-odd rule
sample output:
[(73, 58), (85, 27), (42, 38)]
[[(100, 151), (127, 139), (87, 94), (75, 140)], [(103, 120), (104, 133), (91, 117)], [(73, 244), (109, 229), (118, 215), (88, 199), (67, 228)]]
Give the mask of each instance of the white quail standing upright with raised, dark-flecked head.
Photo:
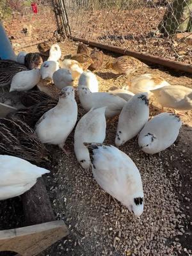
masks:
[(42, 143), (59, 145), (63, 148), (65, 140), (77, 122), (77, 103), (74, 89), (67, 86), (61, 90), (56, 107), (47, 111), (36, 123), (35, 131)]

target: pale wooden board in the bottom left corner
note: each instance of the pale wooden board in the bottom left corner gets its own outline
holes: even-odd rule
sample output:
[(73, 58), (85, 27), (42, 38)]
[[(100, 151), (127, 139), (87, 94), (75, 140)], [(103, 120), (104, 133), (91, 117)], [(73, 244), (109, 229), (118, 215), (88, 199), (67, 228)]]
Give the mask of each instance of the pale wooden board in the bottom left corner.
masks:
[(0, 231), (0, 252), (12, 251), (22, 256), (35, 256), (68, 235), (63, 221)]

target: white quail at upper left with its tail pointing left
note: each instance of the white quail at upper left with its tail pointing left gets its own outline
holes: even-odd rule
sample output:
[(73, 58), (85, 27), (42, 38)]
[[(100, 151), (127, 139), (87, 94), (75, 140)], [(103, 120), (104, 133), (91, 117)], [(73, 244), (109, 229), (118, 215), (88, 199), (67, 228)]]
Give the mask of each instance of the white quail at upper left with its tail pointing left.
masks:
[(40, 81), (40, 70), (38, 68), (18, 72), (13, 76), (10, 92), (27, 91), (32, 89)]

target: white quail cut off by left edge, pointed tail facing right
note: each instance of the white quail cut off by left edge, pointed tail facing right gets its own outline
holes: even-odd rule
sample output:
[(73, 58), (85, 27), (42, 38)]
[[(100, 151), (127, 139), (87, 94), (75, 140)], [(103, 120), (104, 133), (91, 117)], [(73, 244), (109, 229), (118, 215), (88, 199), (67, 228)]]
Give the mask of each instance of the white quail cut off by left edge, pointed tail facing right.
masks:
[(0, 200), (22, 195), (48, 170), (14, 156), (0, 155)]

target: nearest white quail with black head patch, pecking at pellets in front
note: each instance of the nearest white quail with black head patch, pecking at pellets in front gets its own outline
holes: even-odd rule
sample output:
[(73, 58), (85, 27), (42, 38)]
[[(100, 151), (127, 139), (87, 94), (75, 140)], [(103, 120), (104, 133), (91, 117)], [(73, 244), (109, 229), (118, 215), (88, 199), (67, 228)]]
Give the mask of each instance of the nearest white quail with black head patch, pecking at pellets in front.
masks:
[[(111, 145), (98, 146), (93, 149), (92, 172), (100, 187), (109, 195), (119, 200), (136, 216), (142, 214), (141, 175), (129, 156)], [(138, 198), (141, 204), (136, 204)]]

